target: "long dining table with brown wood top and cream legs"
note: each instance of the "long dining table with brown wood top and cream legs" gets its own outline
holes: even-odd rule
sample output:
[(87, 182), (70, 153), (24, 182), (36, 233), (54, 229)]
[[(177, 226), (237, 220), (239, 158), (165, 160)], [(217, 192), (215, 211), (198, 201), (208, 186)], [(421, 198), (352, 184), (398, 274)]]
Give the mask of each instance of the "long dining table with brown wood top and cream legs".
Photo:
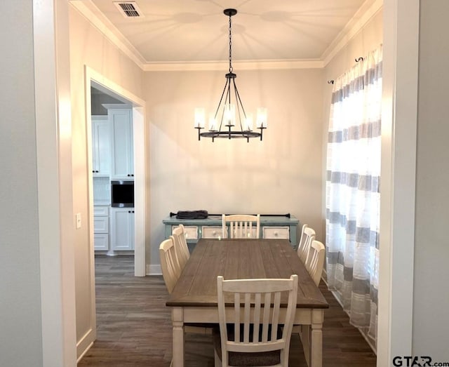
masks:
[[(218, 324), (217, 276), (225, 279), (276, 279), (298, 276), (295, 325), (309, 367), (322, 366), (323, 319), (329, 307), (288, 239), (200, 239), (166, 301), (173, 323), (173, 359), (185, 363), (185, 323)], [(286, 310), (286, 308), (285, 308)]]

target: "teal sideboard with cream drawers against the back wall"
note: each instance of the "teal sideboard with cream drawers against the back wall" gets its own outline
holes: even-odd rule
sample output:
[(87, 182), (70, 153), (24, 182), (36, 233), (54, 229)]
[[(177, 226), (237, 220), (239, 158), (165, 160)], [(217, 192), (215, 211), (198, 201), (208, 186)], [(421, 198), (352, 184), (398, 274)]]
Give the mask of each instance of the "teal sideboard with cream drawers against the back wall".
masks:
[[(209, 215), (206, 219), (177, 219), (170, 216), (164, 219), (165, 238), (172, 234), (174, 227), (184, 225), (189, 251), (192, 251), (196, 242), (201, 238), (219, 238), (222, 236), (221, 215)], [(261, 215), (260, 238), (261, 239), (289, 239), (293, 248), (297, 248), (297, 227), (300, 221), (290, 215)]]

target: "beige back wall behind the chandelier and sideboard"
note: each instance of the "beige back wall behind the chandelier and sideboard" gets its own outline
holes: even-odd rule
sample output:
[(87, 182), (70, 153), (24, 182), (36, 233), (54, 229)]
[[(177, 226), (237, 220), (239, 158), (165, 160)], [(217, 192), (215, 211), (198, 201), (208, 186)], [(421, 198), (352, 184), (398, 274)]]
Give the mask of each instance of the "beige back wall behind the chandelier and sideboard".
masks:
[[(242, 71), (246, 112), (269, 109), (264, 140), (197, 139), (194, 107), (215, 112), (225, 72), (147, 72), (151, 264), (170, 211), (291, 213), (321, 222), (322, 69)], [(321, 238), (321, 232), (318, 233)]]

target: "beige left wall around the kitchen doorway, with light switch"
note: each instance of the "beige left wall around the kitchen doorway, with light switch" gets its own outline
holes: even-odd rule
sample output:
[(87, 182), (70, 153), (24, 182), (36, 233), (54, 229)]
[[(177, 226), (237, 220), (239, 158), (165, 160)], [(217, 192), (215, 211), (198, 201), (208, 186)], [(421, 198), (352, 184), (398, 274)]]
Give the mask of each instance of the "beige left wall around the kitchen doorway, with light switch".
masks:
[[(88, 166), (84, 66), (142, 95), (142, 70), (102, 36), (74, 8), (69, 12), (70, 69), (72, 87), (72, 147), (74, 213), (81, 213), (83, 226), (75, 232), (76, 340), (85, 344), (93, 331), (91, 319), (91, 255), (89, 247)], [(79, 350), (83, 347), (79, 347)]]

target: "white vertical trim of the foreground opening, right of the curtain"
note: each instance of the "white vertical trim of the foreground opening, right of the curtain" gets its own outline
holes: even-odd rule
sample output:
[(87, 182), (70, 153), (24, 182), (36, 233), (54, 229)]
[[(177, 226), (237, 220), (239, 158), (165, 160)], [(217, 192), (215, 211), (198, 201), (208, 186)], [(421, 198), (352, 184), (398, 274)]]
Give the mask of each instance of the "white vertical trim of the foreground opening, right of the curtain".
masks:
[(385, 0), (377, 366), (413, 355), (420, 0)]

